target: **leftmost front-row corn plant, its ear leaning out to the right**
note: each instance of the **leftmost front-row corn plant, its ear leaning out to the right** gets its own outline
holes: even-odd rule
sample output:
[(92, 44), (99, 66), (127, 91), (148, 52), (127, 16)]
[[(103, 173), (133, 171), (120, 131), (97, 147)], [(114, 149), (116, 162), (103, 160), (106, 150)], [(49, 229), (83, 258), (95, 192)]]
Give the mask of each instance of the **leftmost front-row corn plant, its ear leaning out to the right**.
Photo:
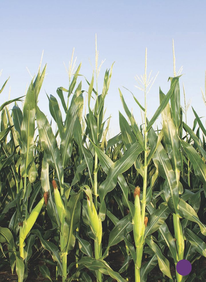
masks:
[[(13, 251), (15, 253), (15, 261), (16, 261), (16, 272), (18, 275), (19, 281), (23, 281), (27, 277), (27, 260), (28, 260), (28, 248), (26, 246), (26, 251), (24, 251), (24, 245), (25, 245), (25, 239), (27, 235), (29, 234), (33, 224), (35, 223), (39, 212), (43, 206), (44, 199), (42, 198), (39, 203), (36, 205), (36, 207), (31, 211), (29, 214), (27, 211), (28, 208), (28, 198), (29, 194), (31, 193), (31, 183), (33, 183), (36, 179), (37, 173), (36, 173), (36, 166), (33, 162), (33, 149), (34, 149), (34, 141), (33, 141), (33, 135), (34, 135), (34, 124), (35, 124), (35, 106), (36, 106), (36, 100), (41, 88), (41, 84), (43, 82), (43, 77), (45, 73), (45, 68), (43, 72), (40, 74), (40, 71), (38, 72), (37, 78), (35, 81), (31, 82), (31, 85), (28, 89), (25, 103), (24, 103), (24, 109), (23, 114), (21, 110), (16, 115), (16, 117), (19, 117), (19, 123), (17, 125), (17, 119), (13, 118), (6, 108), (7, 111), (7, 117), (8, 117), (8, 123), (11, 124), (12, 130), (12, 139), (11, 141), (14, 142), (14, 145), (19, 143), (20, 144), (20, 150), (18, 152), (21, 153), (21, 155), (18, 156), (17, 165), (15, 170), (13, 169), (13, 163), (11, 163), (11, 168), (13, 170), (13, 175), (16, 179), (15, 185), (12, 185), (13, 190), (13, 199), (9, 203), (4, 210), (3, 214), (8, 211), (11, 207), (14, 207), (17, 205), (18, 212), (15, 212), (14, 216), (11, 218), (10, 226), (12, 226), (13, 220), (17, 220), (15, 218), (18, 216), (19, 218), (19, 224), (17, 221), (15, 221), (15, 226), (12, 226), (13, 230), (15, 230), (15, 235), (17, 236), (17, 233), (19, 231), (19, 237), (17, 239), (17, 245), (19, 246), (19, 252), (16, 252), (16, 247), (14, 244), (12, 244)], [(35, 99), (36, 98), (36, 99)], [(19, 99), (15, 99), (18, 101)], [(13, 101), (15, 101), (13, 100)], [(10, 101), (5, 103), (5, 106), (9, 104)], [(15, 108), (17, 108), (15, 106)], [(15, 109), (13, 110), (15, 112)], [(14, 114), (15, 116), (15, 114)], [(19, 140), (18, 140), (19, 139)], [(5, 144), (4, 144), (5, 145)], [(4, 146), (6, 148), (6, 146)], [(16, 149), (16, 148), (15, 148)], [(14, 154), (15, 150), (13, 151)], [(11, 155), (13, 155), (11, 154)], [(11, 158), (11, 157), (10, 157)], [(32, 163), (31, 163), (32, 162)], [(18, 167), (21, 163), (21, 177), (24, 177), (24, 188), (23, 188), (23, 181), (22, 179), (19, 180), (19, 178), (16, 177), (18, 172)], [(14, 166), (15, 167), (15, 166)], [(8, 171), (8, 168), (7, 168)], [(27, 177), (29, 178), (28, 186), (27, 186)], [(12, 182), (12, 177), (10, 176), (9, 183)], [(19, 183), (20, 182), (20, 183)], [(15, 190), (14, 190), (15, 187)], [(31, 209), (30, 209), (31, 210)], [(10, 230), (5, 230), (5, 232), (8, 234), (9, 238), (13, 238), (13, 235), (11, 234)], [(31, 237), (30, 237), (31, 238)], [(29, 240), (29, 239), (28, 239)], [(27, 240), (27, 243), (28, 243)], [(13, 239), (12, 239), (13, 242)], [(11, 257), (11, 256), (10, 256)], [(24, 259), (25, 259), (25, 265), (24, 265)], [(12, 264), (14, 266), (14, 263)]]

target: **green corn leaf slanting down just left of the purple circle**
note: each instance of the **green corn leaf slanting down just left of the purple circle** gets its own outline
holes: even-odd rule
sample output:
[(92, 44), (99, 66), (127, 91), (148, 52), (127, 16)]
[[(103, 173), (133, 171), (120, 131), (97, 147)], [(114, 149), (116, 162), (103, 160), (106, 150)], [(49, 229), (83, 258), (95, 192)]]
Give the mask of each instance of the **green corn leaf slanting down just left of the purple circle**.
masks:
[(170, 273), (170, 266), (169, 266), (169, 261), (165, 256), (163, 256), (161, 249), (151, 238), (146, 238), (146, 243), (148, 246), (152, 249), (152, 251), (156, 254), (157, 259), (158, 259), (158, 264), (159, 268), (164, 273), (167, 275), (167, 277), (172, 279), (171, 273)]

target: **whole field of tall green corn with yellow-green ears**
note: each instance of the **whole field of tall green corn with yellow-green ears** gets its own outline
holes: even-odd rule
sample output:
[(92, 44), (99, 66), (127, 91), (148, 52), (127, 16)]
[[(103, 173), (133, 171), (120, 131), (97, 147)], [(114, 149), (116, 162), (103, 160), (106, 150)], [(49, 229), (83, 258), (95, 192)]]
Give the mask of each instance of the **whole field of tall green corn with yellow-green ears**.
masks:
[[(0, 106), (0, 267), (9, 266), (18, 282), (30, 281), (34, 261), (45, 281), (205, 281), (206, 128), (198, 109), (191, 128), (174, 64), (168, 92), (159, 89), (148, 119), (155, 79), (146, 53), (137, 77), (144, 105), (132, 94), (142, 123), (127, 106), (127, 90), (117, 89), (124, 112), (120, 133), (109, 138), (104, 101), (113, 64), (99, 89), (97, 58), (90, 80), (71, 64), (68, 89), (47, 95), (51, 121), (38, 103), (46, 65), (25, 96)], [(122, 258), (115, 269), (112, 254)], [(188, 275), (176, 270), (183, 259), (192, 264)]]

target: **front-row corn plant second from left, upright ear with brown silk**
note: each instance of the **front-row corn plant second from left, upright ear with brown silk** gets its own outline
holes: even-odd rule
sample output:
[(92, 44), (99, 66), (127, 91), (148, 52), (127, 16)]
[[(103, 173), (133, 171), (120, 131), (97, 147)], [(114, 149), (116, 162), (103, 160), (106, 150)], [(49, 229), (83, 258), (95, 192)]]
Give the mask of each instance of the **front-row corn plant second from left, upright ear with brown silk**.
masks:
[[(79, 120), (82, 115), (83, 107), (83, 97), (81, 92), (81, 83), (77, 87), (74, 95), (72, 97), (70, 107), (67, 109), (66, 103), (63, 96), (63, 91), (68, 92), (68, 98), (72, 94), (74, 87), (76, 85), (77, 75), (80, 70), (80, 66), (77, 68), (72, 83), (69, 90), (66, 90), (62, 87), (58, 88), (57, 93), (61, 99), (62, 106), (66, 113), (66, 119), (63, 123), (62, 114), (58, 105), (56, 98), (50, 95), (49, 98), (49, 110), (54, 118), (58, 132), (61, 138), (60, 149), (54, 136), (51, 126), (44, 115), (43, 112), (37, 107), (37, 126), (39, 137), (41, 139), (41, 144), (44, 150), (45, 160), (54, 169), (56, 173), (56, 179), (52, 180), (52, 185), (54, 188), (54, 200), (53, 203), (53, 212), (57, 210), (58, 214), (58, 228), (60, 232), (60, 257), (62, 264), (59, 268), (59, 273), (62, 275), (62, 281), (64, 282), (67, 277), (67, 254), (70, 250), (74, 248), (75, 236), (74, 232), (77, 228), (78, 222), (80, 220), (80, 203), (79, 200), (82, 196), (82, 190), (78, 193), (74, 193), (70, 196), (70, 188), (64, 189), (64, 169), (68, 166), (70, 162), (72, 147), (74, 142), (74, 131), (75, 131), (75, 122)], [(47, 168), (48, 173), (48, 168)], [(57, 181), (60, 187), (58, 189)], [(66, 184), (66, 183), (65, 183)], [(48, 177), (47, 177), (47, 188), (45, 193), (48, 192)], [(46, 185), (45, 185), (46, 187)], [(67, 186), (66, 186), (67, 187)], [(51, 193), (50, 193), (51, 196)], [(69, 198), (70, 196), (70, 198)], [(69, 199), (69, 200), (68, 200)], [(72, 212), (71, 212), (72, 210)]]

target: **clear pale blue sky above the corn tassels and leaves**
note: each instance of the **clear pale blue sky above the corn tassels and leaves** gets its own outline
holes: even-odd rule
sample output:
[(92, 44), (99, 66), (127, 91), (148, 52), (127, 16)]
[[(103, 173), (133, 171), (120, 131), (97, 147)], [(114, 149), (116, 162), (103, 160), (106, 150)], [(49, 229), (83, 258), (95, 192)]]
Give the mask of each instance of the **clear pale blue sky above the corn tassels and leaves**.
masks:
[[(73, 47), (80, 73), (88, 80), (95, 64), (95, 33), (102, 65), (98, 89), (102, 88), (106, 68), (115, 61), (110, 89), (106, 97), (106, 117), (111, 113), (110, 132), (119, 132), (118, 111), (124, 113), (118, 87), (138, 122), (141, 116), (130, 89), (143, 104), (143, 92), (138, 90), (134, 76), (144, 73), (145, 48), (148, 52), (148, 72), (159, 75), (148, 94), (148, 117), (159, 105), (159, 86), (166, 94), (169, 76), (173, 76), (172, 39), (175, 42), (176, 70), (183, 65), (180, 79), (181, 104), (184, 105), (182, 83), (186, 100), (199, 116), (205, 116), (205, 105), (200, 87), (205, 89), (206, 69), (206, 2), (202, 1), (0, 1), (0, 85), (10, 76), (0, 96), (0, 104), (24, 95), (27, 83), (37, 73), (42, 50), (42, 64), (47, 63), (47, 75), (39, 94), (39, 108), (48, 117), (48, 95), (57, 96), (58, 87), (68, 88), (68, 65)], [(83, 83), (88, 90), (88, 85)], [(46, 92), (46, 93), (45, 93)], [(193, 112), (188, 110), (192, 126)], [(203, 121), (205, 117), (203, 118)]]

